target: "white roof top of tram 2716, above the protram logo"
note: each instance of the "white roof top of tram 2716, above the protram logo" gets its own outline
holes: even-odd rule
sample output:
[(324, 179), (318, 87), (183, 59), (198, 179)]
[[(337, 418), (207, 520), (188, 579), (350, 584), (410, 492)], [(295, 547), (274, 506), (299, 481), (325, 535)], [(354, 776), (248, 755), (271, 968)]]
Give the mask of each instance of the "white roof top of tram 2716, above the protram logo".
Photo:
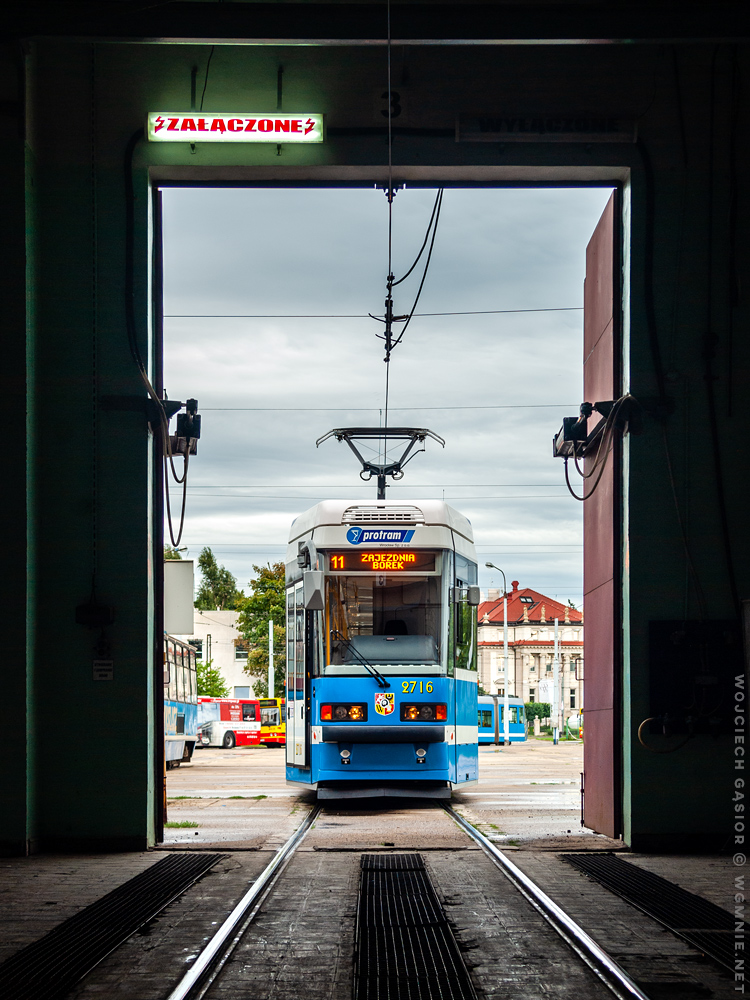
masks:
[(424, 524), (450, 528), (468, 541), (474, 541), (471, 521), (443, 500), (323, 500), (292, 521), (289, 541), (301, 538), (313, 528), (341, 525)]

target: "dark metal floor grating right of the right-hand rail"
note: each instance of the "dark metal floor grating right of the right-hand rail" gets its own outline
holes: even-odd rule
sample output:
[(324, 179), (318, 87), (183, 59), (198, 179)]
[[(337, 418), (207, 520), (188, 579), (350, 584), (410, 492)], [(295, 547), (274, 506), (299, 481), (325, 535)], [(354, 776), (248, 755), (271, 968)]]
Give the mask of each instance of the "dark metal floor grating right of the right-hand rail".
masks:
[[(735, 920), (728, 910), (614, 854), (563, 854), (561, 857), (664, 924), (688, 944), (734, 971)], [(747, 938), (748, 931), (750, 925), (740, 921), (738, 937)]]

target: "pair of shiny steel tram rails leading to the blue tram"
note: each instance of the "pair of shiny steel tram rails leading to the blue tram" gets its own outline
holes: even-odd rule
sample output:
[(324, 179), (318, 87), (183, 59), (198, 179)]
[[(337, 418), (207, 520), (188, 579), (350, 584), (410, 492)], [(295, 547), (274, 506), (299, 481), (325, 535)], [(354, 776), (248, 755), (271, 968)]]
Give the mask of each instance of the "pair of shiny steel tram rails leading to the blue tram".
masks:
[[(451, 819), (477, 843), (518, 892), (537, 910), (563, 941), (618, 1000), (650, 1000), (648, 994), (561, 906), (555, 903), (525, 872), (495, 844), (447, 803), (440, 803)], [(224, 920), (190, 969), (168, 995), (167, 1000), (201, 1000), (211, 988), (264, 900), (291, 861), (295, 851), (312, 829), (325, 807), (316, 805), (289, 840), (275, 854)], [(389, 849), (384, 854), (393, 853)]]

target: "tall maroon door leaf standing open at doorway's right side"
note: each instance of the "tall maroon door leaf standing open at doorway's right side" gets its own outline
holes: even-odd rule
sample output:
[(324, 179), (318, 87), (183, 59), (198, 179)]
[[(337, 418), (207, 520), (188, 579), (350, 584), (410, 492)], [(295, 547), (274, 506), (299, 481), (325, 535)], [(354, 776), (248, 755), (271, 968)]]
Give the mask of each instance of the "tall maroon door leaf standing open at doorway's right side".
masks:
[[(586, 248), (583, 395), (589, 403), (620, 395), (617, 192)], [(616, 308), (615, 308), (616, 304)], [(594, 414), (589, 431), (601, 418)], [(598, 456), (585, 461), (590, 471)], [(620, 686), (620, 449), (617, 442), (597, 476), (586, 480), (583, 505), (584, 823), (597, 833), (622, 833)], [(590, 494), (590, 495), (589, 495)]]

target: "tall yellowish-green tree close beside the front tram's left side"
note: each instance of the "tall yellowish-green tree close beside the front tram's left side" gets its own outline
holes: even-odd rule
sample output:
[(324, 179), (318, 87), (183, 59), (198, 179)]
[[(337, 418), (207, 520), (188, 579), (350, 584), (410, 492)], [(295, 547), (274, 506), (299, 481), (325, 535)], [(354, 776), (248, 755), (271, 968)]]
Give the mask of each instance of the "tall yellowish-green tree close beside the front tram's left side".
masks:
[(284, 627), (284, 563), (253, 566), (255, 579), (249, 583), (250, 596), (239, 608), (237, 628), (250, 643), (245, 670), (253, 678), (253, 690), (268, 697), (268, 623), (273, 621), (273, 697), (284, 697), (286, 669), (286, 629)]

